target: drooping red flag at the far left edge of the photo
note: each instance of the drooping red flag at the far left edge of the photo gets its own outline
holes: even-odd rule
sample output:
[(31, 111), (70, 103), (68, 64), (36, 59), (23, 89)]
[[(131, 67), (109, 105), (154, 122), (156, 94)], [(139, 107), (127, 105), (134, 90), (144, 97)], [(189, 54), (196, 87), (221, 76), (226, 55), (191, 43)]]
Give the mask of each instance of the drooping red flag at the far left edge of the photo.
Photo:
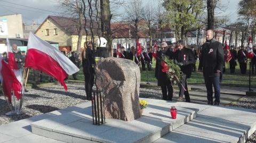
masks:
[[(18, 93), (18, 89), (21, 89), (20, 82), (17, 80), (15, 74), (13, 73), (12, 69), (10, 66), (4, 61), (2, 56), (0, 55), (0, 80), (3, 86), (3, 93), (4, 96), (8, 98), (8, 101), (11, 103), (12, 102), (12, 89), (14, 92), (14, 95), (16, 98), (19, 100), (21, 95)], [(19, 87), (15, 87), (15, 86)]]

